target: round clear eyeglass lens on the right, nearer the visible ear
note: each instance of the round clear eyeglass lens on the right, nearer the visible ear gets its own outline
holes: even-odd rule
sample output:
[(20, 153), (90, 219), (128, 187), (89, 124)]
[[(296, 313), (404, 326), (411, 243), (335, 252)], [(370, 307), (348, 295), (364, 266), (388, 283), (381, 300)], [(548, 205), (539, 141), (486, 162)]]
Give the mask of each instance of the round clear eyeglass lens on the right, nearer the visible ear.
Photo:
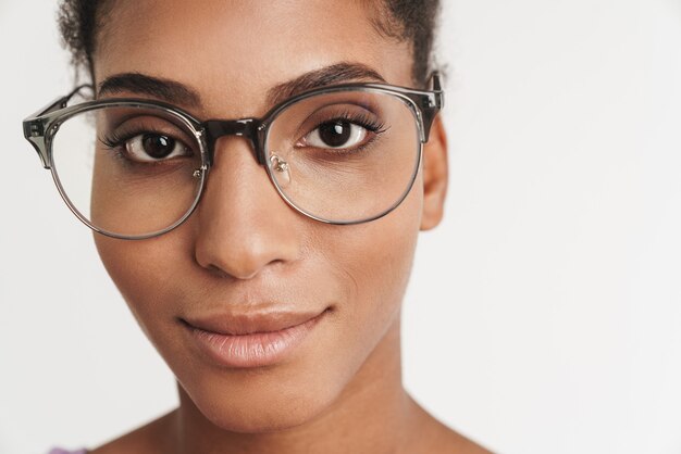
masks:
[[(308, 214), (352, 223), (398, 203), (417, 171), (411, 110), (380, 91), (304, 99), (272, 123), (265, 150), (281, 192)], [(276, 168), (284, 161), (286, 168)]]

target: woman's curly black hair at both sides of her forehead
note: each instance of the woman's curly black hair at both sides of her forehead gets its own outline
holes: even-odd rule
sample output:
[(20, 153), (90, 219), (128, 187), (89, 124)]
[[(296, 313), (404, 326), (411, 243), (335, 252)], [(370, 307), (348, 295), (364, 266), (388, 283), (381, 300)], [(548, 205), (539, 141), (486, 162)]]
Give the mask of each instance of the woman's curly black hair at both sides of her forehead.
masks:
[[(62, 0), (59, 8), (64, 46), (71, 51), (76, 70), (87, 70), (90, 78), (97, 30), (106, 22), (111, 3), (112, 0)], [(412, 78), (423, 86), (431, 71), (439, 0), (379, 0), (375, 8), (373, 25), (381, 35), (411, 42)]]

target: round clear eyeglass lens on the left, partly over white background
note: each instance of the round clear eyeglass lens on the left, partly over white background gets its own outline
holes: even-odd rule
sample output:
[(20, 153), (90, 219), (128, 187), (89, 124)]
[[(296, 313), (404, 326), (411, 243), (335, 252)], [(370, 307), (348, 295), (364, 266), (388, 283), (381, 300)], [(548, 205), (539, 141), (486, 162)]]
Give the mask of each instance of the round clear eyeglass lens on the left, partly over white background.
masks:
[(92, 227), (144, 236), (178, 222), (199, 194), (200, 146), (156, 109), (106, 106), (64, 122), (52, 142), (64, 196)]

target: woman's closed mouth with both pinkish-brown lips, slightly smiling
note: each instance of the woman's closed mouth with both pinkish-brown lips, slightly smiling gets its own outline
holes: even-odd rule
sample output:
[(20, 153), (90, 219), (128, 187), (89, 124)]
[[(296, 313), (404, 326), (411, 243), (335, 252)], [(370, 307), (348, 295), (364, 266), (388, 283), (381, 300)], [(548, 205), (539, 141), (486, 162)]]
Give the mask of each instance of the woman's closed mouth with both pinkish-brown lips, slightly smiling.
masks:
[(223, 314), (179, 320), (209, 361), (223, 367), (255, 368), (283, 362), (330, 311)]

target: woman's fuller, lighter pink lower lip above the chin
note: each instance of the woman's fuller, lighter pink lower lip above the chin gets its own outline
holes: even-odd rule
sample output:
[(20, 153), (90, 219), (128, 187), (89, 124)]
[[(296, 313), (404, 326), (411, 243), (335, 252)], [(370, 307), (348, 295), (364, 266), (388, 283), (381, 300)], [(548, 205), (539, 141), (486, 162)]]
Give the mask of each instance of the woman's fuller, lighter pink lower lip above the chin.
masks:
[(290, 328), (252, 335), (221, 335), (191, 325), (187, 328), (212, 361), (227, 367), (253, 368), (282, 362), (302, 343), (324, 313)]

